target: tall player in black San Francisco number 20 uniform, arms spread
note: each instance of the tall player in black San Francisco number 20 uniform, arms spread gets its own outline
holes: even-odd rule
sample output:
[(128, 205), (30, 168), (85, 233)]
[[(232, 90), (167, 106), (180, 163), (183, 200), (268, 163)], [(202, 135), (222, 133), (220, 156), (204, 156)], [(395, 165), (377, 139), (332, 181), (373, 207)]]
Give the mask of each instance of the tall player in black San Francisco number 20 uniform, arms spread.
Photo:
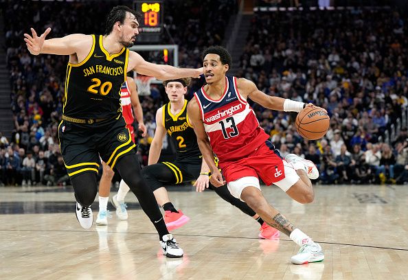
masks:
[(181, 257), (183, 250), (168, 233), (155, 196), (143, 180), (139, 165), (135, 164), (135, 144), (122, 116), (120, 87), (131, 70), (159, 80), (198, 77), (203, 71), (155, 65), (126, 49), (135, 43), (139, 34), (139, 16), (126, 6), (116, 6), (106, 18), (104, 35), (70, 34), (45, 40), (51, 28), (41, 36), (31, 28), (32, 34), (24, 34), (24, 40), (33, 55), (69, 56), (58, 136), (75, 191), (76, 216), (81, 226), (89, 229), (93, 223), (91, 204), (97, 193), (101, 158), (112, 169), (116, 168), (137, 196), (159, 233), (163, 254)]

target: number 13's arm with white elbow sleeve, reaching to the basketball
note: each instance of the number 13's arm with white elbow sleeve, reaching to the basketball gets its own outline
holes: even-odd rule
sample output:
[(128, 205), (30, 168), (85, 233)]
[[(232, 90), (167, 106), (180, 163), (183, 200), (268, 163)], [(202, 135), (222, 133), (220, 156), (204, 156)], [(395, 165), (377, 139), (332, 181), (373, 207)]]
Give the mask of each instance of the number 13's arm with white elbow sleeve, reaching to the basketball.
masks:
[(249, 97), (254, 102), (262, 105), (264, 108), (271, 110), (283, 110), (285, 112), (300, 112), (303, 108), (314, 107), (315, 105), (293, 100), (284, 99), (282, 97), (271, 96), (260, 91), (256, 84), (245, 78), (237, 80), (238, 91), (245, 98)]

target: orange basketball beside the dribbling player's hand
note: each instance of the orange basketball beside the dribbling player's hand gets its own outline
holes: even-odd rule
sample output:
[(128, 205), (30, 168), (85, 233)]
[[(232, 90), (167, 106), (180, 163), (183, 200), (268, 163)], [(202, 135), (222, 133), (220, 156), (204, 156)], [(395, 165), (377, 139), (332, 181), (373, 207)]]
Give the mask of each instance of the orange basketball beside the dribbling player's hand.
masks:
[(304, 108), (297, 114), (295, 121), (299, 135), (309, 140), (324, 137), (329, 126), (330, 117), (320, 107)]

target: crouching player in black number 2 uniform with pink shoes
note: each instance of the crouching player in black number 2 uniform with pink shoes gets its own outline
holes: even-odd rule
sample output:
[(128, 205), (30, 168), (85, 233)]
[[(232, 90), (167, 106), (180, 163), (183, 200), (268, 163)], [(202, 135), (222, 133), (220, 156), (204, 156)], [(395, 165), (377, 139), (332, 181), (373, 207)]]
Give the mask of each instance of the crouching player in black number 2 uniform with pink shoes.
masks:
[[(148, 166), (141, 170), (146, 182), (153, 190), (156, 200), (165, 211), (164, 221), (169, 230), (177, 229), (190, 218), (177, 210), (170, 202), (166, 185), (177, 185), (180, 183), (196, 180), (194, 186), (196, 191), (211, 188), (223, 200), (231, 203), (242, 212), (256, 219), (261, 227), (259, 237), (265, 239), (279, 239), (279, 231), (265, 223), (245, 202), (232, 196), (227, 186), (213, 187), (209, 185), (209, 167), (203, 160), (197, 137), (190, 124), (187, 114), (187, 100), (184, 99), (190, 79), (167, 80), (163, 84), (170, 102), (165, 104), (156, 113), (156, 131), (149, 150)], [(174, 141), (177, 147), (177, 159), (174, 162), (159, 161), (161, 146), (166, 134)], [(121, 185), (117, 192), (117, 201), (124, 202), (128, 188)]]

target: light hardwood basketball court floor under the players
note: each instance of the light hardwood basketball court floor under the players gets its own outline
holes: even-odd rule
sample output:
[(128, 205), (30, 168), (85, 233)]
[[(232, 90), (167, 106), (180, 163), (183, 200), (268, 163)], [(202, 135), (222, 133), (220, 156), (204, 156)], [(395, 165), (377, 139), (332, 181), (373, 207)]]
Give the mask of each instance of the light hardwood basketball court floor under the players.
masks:
[(191, 218), (172, 231), (182, 259), (161, 255), (133, 194), (126, 197), (128, 221), (117, 220), (109, 204), (109, 225), (84, 230), (71, 187), (0, 188), (0, 279), (408, 279), (407, 186), (317, 185), (310, 205), (263, 187), (324, 249), (323, 262), (304, 266), (290, 263), (298, 247), (286, 235), (259, 240), (258, 222), (214, 191), (169, 190)]

